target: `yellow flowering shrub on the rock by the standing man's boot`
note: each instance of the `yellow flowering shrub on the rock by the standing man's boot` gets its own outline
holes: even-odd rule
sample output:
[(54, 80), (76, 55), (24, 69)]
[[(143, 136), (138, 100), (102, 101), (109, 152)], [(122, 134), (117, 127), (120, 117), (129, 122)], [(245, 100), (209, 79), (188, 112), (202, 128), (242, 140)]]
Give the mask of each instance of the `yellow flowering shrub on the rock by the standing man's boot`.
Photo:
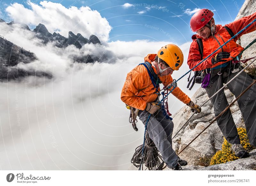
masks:
[[(248, 152), (255, 149), (255, 147), (249, 143), (245, 128), (237, 128), (237, 131), (238, 131), (238, 135), (240, 136), (241, 144), (244, 146), (244, 148)], [(212, 156), (210, 165), (226, 163), (228, 161), (239, 159), (238, 157), (236, 157), (235, 153), (232, 153), (230, 151), (231, 146), (232, 145), (228, 143), (228, 141), (224, 137), (224, 142), (222, 143), (222, 149), (221, 151), (217, 151)]]

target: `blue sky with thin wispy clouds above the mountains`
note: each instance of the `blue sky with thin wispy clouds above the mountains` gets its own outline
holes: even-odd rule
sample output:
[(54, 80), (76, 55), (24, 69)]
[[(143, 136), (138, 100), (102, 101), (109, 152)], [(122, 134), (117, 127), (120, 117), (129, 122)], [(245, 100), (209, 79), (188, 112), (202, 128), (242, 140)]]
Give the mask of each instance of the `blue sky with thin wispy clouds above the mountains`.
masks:
[[(4, 20), (10, 20), (4, 9), (13, 3), (23, 4), (26, 8), (27, 0), (0, 0), (0, 7)], [(32, 1), (39, 4), (40, 0)], [(214, 11), (217, 24), (225, 25), (232, 22), (244, 1), (238, 0), (180, 0), (180, 1), (142, 1), (142, 0), (51, 0), (60, 3), (66, 8), (70, 6), (89, 6), (92, 10), (100, 12), (112, 27), (109, 41), (134, 41), (147, 39), (150, 41), (170, 41), (182, 44), (191, 41), (192, 31), (189, 20), (196, 8), (208, 8)], [(130, 6), (124, 7), (125, 3)], [(190, 9), (190, 10), (189, 10)], [(3, 16), (4, 15), (4, 16)], [(99, 28), (100, 29), (100, 28)]]

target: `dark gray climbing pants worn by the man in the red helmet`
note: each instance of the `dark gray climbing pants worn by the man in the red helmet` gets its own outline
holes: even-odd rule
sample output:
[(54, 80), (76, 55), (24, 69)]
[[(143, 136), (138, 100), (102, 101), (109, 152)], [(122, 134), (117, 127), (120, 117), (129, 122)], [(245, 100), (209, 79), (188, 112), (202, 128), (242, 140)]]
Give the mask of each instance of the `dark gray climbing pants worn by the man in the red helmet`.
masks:
[[(223, 83), (227, 83), (241, 71), (240, 69), (237, 73), (231, 73), (233, 66), (233, 64), (230, 64), (225, 72), (222, 74), (219, 73), (221, 75), (217, 74), (220, 72), (220, 69), (213, 70), (212, 77), (214, 77), (216, 74), (217, 79), (215, 77), (214, 81), (212, 80), (214, 78), (212, 78), (210, 80), (210, 85), (206, 88), (206, 92), (209, 97), (211, 97), (215, 92), (222, 88)], [(235, 95), (235, 97), (238, 97), (252, 83), (252, 81), (252, 78), (248, 74), (242, 72), (227, 86), (228, 89)], [(215, 116), (218, 116), (228, 106), (228, 101), (224, 90), (220, 91), (216, 96), (214, 96), (211, 101), (212, 105), (214, 106)], [(249, 143), (251, 143), (253, 146), (256, 146), (256, 85), (247, 90), (244, 95), (237, 100), (237, 103), (244, 118)], [(222, 134), (225, 136), (229, 143), (240, 144), (240, 138), (238, 136), (236, 125), (230, 109), (228, 109), (220, 118), (217, 119), (217, 123)]]

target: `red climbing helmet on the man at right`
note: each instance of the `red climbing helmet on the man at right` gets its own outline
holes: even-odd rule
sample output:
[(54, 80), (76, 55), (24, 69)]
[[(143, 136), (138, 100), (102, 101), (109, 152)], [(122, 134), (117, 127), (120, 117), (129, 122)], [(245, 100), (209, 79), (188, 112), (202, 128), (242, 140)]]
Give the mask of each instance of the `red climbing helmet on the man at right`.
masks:
[(193, 32), (196, 32), (200, 28), (204, 27), (213, 17), (213, 12), (208, 9), (201, 9), (197, 11), (190, 19), (190, 28)]

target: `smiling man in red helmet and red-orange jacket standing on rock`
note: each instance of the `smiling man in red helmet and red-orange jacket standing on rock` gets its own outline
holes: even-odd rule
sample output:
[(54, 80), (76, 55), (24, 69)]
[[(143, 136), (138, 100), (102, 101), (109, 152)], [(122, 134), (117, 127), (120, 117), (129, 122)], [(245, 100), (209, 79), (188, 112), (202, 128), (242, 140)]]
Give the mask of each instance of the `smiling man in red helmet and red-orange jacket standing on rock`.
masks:
[[(252, 15), (238, 19), (225, 26), (221, 26), (215, 25), (213, 12), (209, 9), (201, 9), (196, 12), (190, 20), (191, 30), (196, 32), (196, 35), (192, 36), (193, 42), (189, 50), (189, 68), (192, 69), (196, 66), (202, 59), (210, 55), (255, 18), (256, 13), (253, 13)], [(237, 63), (236, 61), (240, 59), (241, 56), (239, 54), (244, 48), (237, 44), (236, 41), (241, 35), (254, 30), (256, 30), (255, 23), (193, 69), (197, 74), (200, 74), (202, 81), (200, 81), (199, 76), (196, 77), (196, 81), (199, 83), (203, 82), (202, 87), (205, 88), (209, 97), (212, 97), (215, 92), (223, 87), (223, 83), (227, 83), (241, 71), (242, 66), (240, 62)], [(227, 86), (235, 97), (237, 97), (251, 83), (252, 78), (245, 72), (242, 72)], [(250, 92), (252, 93), (250, 94)], [(218, 116), (228, 106), (224, 90), (214, 96), (211, 102), (214, 107), (215, 116)], [(241, 96), (237, 102), (244, 118), (249, 142), (256, 146), (256, 90), (252, 87), (247, 93)], [(240, 138), (230, 109), (217, 119), (217, 123), (222, 134), (228, 142), (232, 144), (231, 150), (235, 152), (236, 156), (239, 158), (248, 157), (249, 153), (240, 143)]]

